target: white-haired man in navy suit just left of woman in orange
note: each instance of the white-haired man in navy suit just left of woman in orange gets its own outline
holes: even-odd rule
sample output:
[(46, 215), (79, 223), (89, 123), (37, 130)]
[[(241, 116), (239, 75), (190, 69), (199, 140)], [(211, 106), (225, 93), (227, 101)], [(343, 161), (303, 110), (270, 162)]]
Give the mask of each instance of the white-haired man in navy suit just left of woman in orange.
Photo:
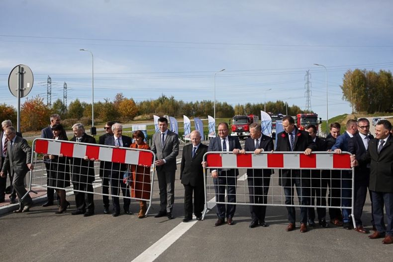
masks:
[[(113, 135), (107, 136), (105, 138), (106, 145), (114, 145), (116, 147), (130, 147), (132, 143), (132, 139), (129, 136), (122, 135), (123, 126), (119, 123), (115, 123), (112, 125)], [(113, 217), (117, 217), (120, 214), (120, 202), (118, 195), (120, 194), (120, 189), (123, 194), (123, 197), (130, 197), (129, 187), (123, 183), (124, 172), (128, 169), (127, 164), (120, 164), (114, 162), (105, 162), (104, 163), (104, 176), (110, 177), (110, 192), (112, 195), (112, 204), (113, 204)], [(131, 200), (129, 198), (123, 198), (123, 208), (124, 213), (127, 215), (132, 215), (130, 212), (130, 203)]]

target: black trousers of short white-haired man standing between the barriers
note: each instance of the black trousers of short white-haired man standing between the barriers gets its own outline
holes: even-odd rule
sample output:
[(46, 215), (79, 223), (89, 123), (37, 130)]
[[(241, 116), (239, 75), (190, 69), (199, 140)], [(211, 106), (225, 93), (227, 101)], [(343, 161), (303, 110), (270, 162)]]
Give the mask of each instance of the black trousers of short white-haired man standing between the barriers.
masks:
[(193, 218), (193, 193), (194, 193), (194, 214), (196, 217), (202, 215), (204, 208), (204, 187), (183, 185), (184, 186), (184, 217)]

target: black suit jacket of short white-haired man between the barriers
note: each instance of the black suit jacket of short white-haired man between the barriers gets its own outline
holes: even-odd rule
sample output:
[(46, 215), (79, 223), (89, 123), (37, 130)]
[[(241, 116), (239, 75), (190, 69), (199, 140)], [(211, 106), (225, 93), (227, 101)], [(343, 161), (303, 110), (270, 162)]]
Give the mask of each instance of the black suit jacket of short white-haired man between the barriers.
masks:
[(182, 163), (180, 165), (180, 180), (184, 185), (203, 186), (203, 155), (207, 152), (207, 145), (199, 144), (193, 157), (193, 144), (183, 147)]

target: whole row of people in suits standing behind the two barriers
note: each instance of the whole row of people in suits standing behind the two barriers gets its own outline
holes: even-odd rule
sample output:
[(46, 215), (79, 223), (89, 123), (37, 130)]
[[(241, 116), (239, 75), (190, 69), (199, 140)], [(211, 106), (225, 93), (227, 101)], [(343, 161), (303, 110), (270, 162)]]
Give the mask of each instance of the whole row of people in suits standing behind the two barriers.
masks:
[[(60, 116), (50, 117), (50, 126), (43, 129), (41, 137), (55, 140), (68, 140), (66, 131), (60, 124)], [(384, 238), (384, 244), (393, 243), (393, 136), (392, 125), (387, 120), (380, 120), (376, 126), (376, 137), (370, 134), (370, 123), (366, 118), (349, 120), (346, 123), (346, 131), (340, 135), (339, 123), (330, 125), (330, 133), (326, 138), (318, 137), (317, 128), (314, 125), (306, 127), (305, 131), (296, 128), (295, 121), (291, 116), (283, 119), (284, 131), (277, 134), (276, 149), (274, 149), (273, 138), (262, 133), (261, 125), (254, 123), (250, 126), (250, 137), (246, 139), (244, 148), (237, 137), (229, 135), (227, 123), (218, 125), (218, 136), (209, 140), (209, 145), (201, 143), (201, 135), (198, 131), (191, 133), (191, 143), (183, 148), (180, 167), (180, 179), (184, 185), (184, 219), (189, 222), (193, 219), (193, 213), (197, 220), (202, 219), (204, 207), (204, 175), (203, 168), (208, 164), (202, 161), (203, 155), (209, 151), (230, 152), (233, 154), (245, 154), (253, 152), (260, 154), (263, 151), (302, 151), (309, 155), (313, 151), (332, 151), (341, 154), (344, 151), (352, 153), (351, 164), (355, 167), (354, 179), (354, 218), (356, 230), (366, 234), (362, 218), (363, 207), (369, 191), (372, 203), (372, 227), (374, 233), (370, 239)], [(30, 163), (31, 148), (26, 140), (18, 136), (11, 123), (2, 123), (1, 133), (1, 178), (0, 178), (0, 202), (4, 201), (6, 175), (11, 177), (13, 186), (10, 192), (11, 199), (17, 195), (20, 207), (15, 213), (27, 212), (31, 208), (32, 199), (26, 194), (23, 179), (29, 170), (33, 169)], [(122, 126), (118, 123), (107, 122), (105, 134), (99, 137), (99, 144), (114, 147), (131, 147), (137, 149), (152, 150), (156, 154), (155, 167), (157, 170), (160, 210), (156, 218), (167, 216), (173, 219), (173, 205), (175, 193), (175, 173), (177, 169), (176, 157), (179, 154), (178, 134), (168, 130), (168, 120), (158, 120), (159, 131), (153, 134), (151, 148), (144, 142), (145, 136), (142, 131), (133, 133), (134, 142), (131, 137), (122, 135)], [(74, 136), (70, 139), (76, 143), (96, 143), (93, 136), (86, 134), (84, 126), (80, 123), (73, 127)], [(94, 214), (93, 181), (95, 180), (94, 161), (98, 159), (70, 158), (59, 155), (44, 155), (43, 161), (47, 172), (47, 196), (48, 201), (43, 205), (54, 204), (54, 191), (58, 196), (59, 209), (56, 213), (63, 213), (70, 206), (66, 200), (65, 188), (72, 182), (75, 195), (76, 210), (72, 215), (84, 214), (85, 217)], [(330, 175), (340, 170), (330, 171)], [(352, 229), (352, 218), (350, 217), (352, 172), (341, 171), (338, 179), (328, 179), (327, 172), (311, 172), (313, 178), (309, 179), (301, 174), (300, 169), (280, 169), (279, 185), (283, 187), (285, 204), (288, 210), (289, 224), (286, 231), (293, 231), (295, 225), (294, 192), (298, 196), (300, 207), (300, 232), (307, 232), (309, 227), (316, 227), (316, 206), (329, 206), (329, 217), (331, 224)], [(233, 225), (236, 211), (236, 177), (237, 168), (210, 169), (213, 179), (217, 203), (217, 221), (215, 226), (223, 224)], [(126, 177), (125, 174), (128, 174)], [(267, 227), (265, 220), (267, 196), (272, 169), (248, 169), (247, 181), (249, 190), (249, 202), (251, 212), (250, 228), (258, 226)], [(124, 176), (124, 179), (123, 179)], [(119, 193), (122, 192), (124, 214), (132, 214), (130, 198), (149, 199), (151, 191), (150, 166), (128, 165), (122, 163), (100, 161), (99, 177), (102, 179), (103, 213), (109, 214), (109, 188), (112, 196), (112, 216), (120, 214)], [(327, 189), (329, 189), (326, 198)], [(227, 203), (225, 202), (225, 190)], [(194, 195), (194, 198), (193, 198)], [(316, 201), (315, 201), (316, 200)], [(260, 205), (252, 205), (260, 204)], [(342, 210), (336, 207), (344, 207)], [(384, 206), (387, 214), (386, 226), (384, 223)], [(345, 208), (348, 207), (348, 208)], [(317, 218), (320, 227), (329, 227), (326, 219), (326, 208), (318, 207)], [(146, 201), (140, 201), (138, 218), (145, 217)], [(226, 219), (226, 221), (225, 221)]]

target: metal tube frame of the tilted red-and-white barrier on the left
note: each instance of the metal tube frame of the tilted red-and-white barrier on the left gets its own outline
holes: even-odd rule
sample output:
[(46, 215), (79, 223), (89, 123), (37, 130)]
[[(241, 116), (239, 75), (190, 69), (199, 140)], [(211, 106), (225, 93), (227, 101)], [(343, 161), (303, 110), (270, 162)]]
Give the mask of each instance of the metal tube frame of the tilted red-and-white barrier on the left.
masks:
[[(110, 197), (114, 196), (114, 197), (119, 197), (119, 198), (129, 198), (129, 199), (134, 199), (134, 200), (149, 201), (149, 206), (146, 209), (146, 213), (145, 213), (146, 216), (148, 215), (149, 210), (151, 208), (152, 198), (153, 198), (154, 178), (155, 178), (155, 173), (156, 173), (156, 168), (155, 168), (156, 154), (153, 151), (146, 150), (146, 149), (130, 148), (130, 147), (116, 147), (116, 146), (113, 146), (113, 145), (104, 145), (104, 144), (97, 144), (97, 143), (96, 144), (92, 144), (92, 143), (74, 142), (74, 141), (67, 141), (67, 140), (56, 140), (56, 139), (48, 139), (48, 138), (35, 138), (33, 140), (32, 146), (31, 146), (31, 163), (33, 163), (34, 158), (37, 159), (37, 154), (39, 154), (39, 153), (35, 152), (36, 141), (38, 141), (38, 140), (55, 141), (55, 142), (61, 142), (61, 143), (72, 143), (72, 144), (89, 145), (89, 146), (98, 146), (98, 147), (106, 147), (106, 148), (119, 148), (119, 149), (125, 149), (125, 150), (145, 151), (145, 152), (152, 153), (153, 154), (153, 162), (152, 162), (152, 165), (150, 167), (151, 168), (150, 172), (152, 174), (150, 175), (151, 179), (150, 179), (150, 199), (149, 200), (141, 199), (141, 198), (133, 198), (133, 197), (124, 197), (124, 196), (120, 196), (120, 194), (118, 196), (115, 196), (115, 195), (112, 195), (112, 194), (102, 194), (102, 193), (97, 193), (97, 192), (88, 192), (88, 191), (83, 191), (83, 190), (74, 190), (74, 188), (72, 189), (73, 191), (83, 192), (83, 193), (90, 193), (90, 194), (94, 194), (94, 195), (101, 195), (101, 196), (105, 195), (105, 196), (110, 196)], [(95, 162), (100, 162), (101, 161), (101, 160), (99, 160), (99, 161), (98, 160), (99, 159), (96, 159)], [(108, 161), (105, 161), (105, 162), (108, 162)], [(127, 164), (127, 165), (130, 165), (130, 164)], [(22, 199), (24, 199), (30, 192), (33, 192), (33, 193), (37, 194), (37, 192), (32, 189), (32, 185), (33, 185), (33, 183), (32, 183), (33, 171), (34, 171), (34, 169), (29, 171), (29, 173), (30, 173), (29, 174), (29, 187), (28, 187), (27, 193), (22, 197)], [(71, 171), (70, 171), (70, 174), (72, 174)], [(72, 180), (70, 180), (70, 183), (72, 184)], [(48, 188), (49, 187), (49, 188), (54, 188), (54, 189), (65, 189), (65, 188), (52, 187), (52, 186), (48, 186), (48, 185), (40, 185), (40, 186), (44, 187), (44, 188)], [(101, 183), (101, 186), (102, 186), (102, 183)]]

